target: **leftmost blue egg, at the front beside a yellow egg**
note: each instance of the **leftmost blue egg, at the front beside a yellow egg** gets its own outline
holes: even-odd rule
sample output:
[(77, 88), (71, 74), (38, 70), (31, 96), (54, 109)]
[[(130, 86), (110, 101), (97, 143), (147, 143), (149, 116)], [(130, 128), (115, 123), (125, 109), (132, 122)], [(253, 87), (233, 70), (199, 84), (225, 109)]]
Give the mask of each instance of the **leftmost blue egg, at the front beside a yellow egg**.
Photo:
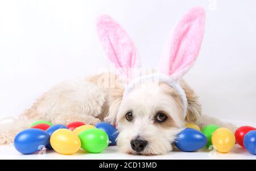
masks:
[(49, 134), (46, 131), (30, 128), (19, 132), (14, 138), (14, 147), (24, 155), (39, 151), (49, 143)]

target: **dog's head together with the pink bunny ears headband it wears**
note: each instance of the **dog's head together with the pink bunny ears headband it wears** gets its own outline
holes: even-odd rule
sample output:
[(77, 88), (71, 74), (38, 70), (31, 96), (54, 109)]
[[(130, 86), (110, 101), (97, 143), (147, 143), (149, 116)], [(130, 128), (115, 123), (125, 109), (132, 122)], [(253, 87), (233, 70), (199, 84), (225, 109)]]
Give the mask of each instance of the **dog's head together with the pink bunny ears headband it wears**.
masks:
[[(134, 70), (140, 62), (130, 37), (109, 16), (101, 16), (98, 20), (102, 46), (117, 74), (128, 82), (124, 92), (115, 89), (112, 93), (110, 113), (105, 119), (117, 123), (117, 144), (123, 152), (155, 155), (171, 151), (176, 135), (184, 127), (185, 118), (195, 119), (195, 115), (200, 113), (197, 103), (189, 101), (195, 98), (191, 95), (192, 90), (188, 87), (186, 90), (179, 82), (198, 56), (204, 20), (203, 9), (196, 7), (189, 11), (177, 24), (164, 48), (159, 82), (152, 79), (145, 82), (140, 76), (140, 80), (135, 81), (139, 84), (132, 84), (138, 80)], [(171, 84), (170, 80), (175, 84)]]

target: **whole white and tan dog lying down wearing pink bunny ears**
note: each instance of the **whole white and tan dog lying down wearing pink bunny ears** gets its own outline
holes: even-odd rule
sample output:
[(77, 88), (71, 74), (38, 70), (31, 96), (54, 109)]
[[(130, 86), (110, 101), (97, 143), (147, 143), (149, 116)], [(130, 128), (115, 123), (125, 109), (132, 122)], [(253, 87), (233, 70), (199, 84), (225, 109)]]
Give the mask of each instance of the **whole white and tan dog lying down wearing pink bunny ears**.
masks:
[(201, 115), (197, 96), (181, 79), (198, 56), (204, 21), (203, 9), (189, 11), (168, 39), (159, 71), (143, 73), (125, 30), (109, 16), (101, 16), (98, 34), (116, 74), (102, 73), (56, 85), (24, 111), (15, 126), (0, 133), (0, 144), (11, 143), (18, 131), (35, 120), (53, 124), (109, 122), (118, 128), (119, 149), (141, 155), (172, 151), (172, 143), (186, 122), (234, 130), (232, 124)]

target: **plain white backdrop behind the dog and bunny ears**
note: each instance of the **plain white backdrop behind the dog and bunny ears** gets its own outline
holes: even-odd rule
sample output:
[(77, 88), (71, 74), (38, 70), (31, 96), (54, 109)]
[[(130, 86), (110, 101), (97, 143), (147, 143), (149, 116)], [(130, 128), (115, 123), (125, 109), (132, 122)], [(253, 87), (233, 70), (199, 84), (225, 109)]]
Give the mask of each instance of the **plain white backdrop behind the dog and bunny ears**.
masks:
[(185, 76), (206, 114), (256, 123), (256, 1), (0, 1), (0, 116), (19, 115), (59, 81), (109, 66), (95, 19), (109, 14), (129, 32), (144, 67), (155, 67), (167, 35), (193, 6), (207, 11), (199, 59)]

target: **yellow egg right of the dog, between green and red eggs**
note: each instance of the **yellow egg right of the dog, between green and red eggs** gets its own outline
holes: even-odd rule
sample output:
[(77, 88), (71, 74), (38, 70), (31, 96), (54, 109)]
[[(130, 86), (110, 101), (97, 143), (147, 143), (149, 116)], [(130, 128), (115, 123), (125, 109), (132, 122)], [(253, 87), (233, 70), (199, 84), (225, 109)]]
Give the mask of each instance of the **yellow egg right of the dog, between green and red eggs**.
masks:
[(221, 153), (228, 153), (236, 144), (236, 137), (228, 128), (218, 128), (212, 134), (212, 144)]

